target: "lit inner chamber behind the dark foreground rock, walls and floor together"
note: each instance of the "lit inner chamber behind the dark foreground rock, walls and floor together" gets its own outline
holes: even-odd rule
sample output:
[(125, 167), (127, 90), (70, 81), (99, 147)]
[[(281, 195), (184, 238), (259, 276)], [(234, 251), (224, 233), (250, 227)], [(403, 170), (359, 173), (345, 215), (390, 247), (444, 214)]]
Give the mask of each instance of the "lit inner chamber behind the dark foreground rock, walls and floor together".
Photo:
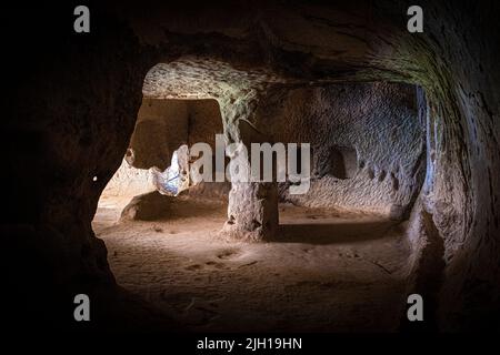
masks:
[[(93, 219), (118, 283), (199, 331), (396, 329), (403, 234), (426, 178), (419, 91), (389, 82), (276, 84), (251, 122), (238, 124), (214, 99), (144, 94)], [(216, 134), (230, 136), (232, 125), (247, 142), (311, 144), (309, 191), (277, 184), (278, 231), (261, 243), (222, 232), (234, 219), (230, 182), (191, 185), (179, 162), (178, 152), (197, 142), (214, 151)], [(236, 203), (244, 210), (244, 200)]]

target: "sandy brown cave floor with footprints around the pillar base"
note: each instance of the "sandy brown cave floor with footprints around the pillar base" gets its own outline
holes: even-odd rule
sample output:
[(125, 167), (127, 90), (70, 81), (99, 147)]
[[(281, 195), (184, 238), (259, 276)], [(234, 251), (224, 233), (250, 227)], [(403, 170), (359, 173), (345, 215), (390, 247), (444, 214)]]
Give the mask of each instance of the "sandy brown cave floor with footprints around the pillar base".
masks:
[(396, 331), (404, 304), (402, 226), (380, 216), (280, 205), (276, 242), (229, 242), (226, 204), (183, 200), (164, 221), (93, 221), (118, 283), (201, 332)]

